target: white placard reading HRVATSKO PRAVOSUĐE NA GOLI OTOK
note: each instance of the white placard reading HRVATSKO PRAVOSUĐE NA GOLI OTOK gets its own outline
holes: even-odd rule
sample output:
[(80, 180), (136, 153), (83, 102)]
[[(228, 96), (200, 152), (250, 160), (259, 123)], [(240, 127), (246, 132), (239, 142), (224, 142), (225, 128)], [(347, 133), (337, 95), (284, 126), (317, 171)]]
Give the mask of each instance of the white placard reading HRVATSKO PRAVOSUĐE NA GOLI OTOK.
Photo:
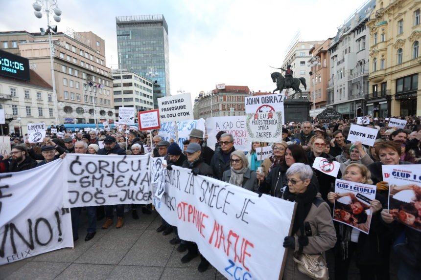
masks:
[(163, 123), (193, 119), (190, 93), (158, 98), (158, 108)]

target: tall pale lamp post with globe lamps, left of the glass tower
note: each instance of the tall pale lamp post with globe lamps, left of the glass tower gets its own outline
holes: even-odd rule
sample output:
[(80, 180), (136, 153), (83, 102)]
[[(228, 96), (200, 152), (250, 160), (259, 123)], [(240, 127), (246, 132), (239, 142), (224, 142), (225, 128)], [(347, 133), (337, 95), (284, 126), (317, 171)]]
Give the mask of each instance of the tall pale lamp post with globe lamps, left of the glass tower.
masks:
[[(48, 44), (50, 50), (50, 64), (51, 64), (51, 80), (53, 86), (53, 102), (54, 102), (54, 116), (56, 125), (59, 124), (58, 119), (58, 105), (57, 105), (57, 92), (55, 87), (55, 78), (54, 78), (54, 63), (53, 63), (53, 54), (54, 54), (54, 44), (52, 43), (52, 34), (57, 32), (57, 25), (50, 25), (50, 13), (54, 13), (54, 21), (60, 22), (61, 21), (61, 10), (58, 8), (57, 0), (36, 0), (32, 7), (34, 8), (35, 12), (34, 15), (38, 19), (43, 17), (43, 13), (47, 15), (47, 31), (44, 28), (40, 28), (41, 34), (48, 33)], [(44, 8), (44, 9), (43, 9)]]

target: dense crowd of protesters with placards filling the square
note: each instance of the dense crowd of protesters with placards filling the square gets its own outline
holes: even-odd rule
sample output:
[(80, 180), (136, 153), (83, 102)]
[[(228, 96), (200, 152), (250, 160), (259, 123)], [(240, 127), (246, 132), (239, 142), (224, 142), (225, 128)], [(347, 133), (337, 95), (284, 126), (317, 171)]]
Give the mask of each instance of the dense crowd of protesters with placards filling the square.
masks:
[[(384, 176), (387, 165), (402, 165), (402, 169), (408, 165), (410, 169), (421, 163), (420, 118), (363, 117), (289, 123), (283, 127), (279, 141), (253, 142), (247, 152), (236, 150), (233, 135), (225, 131), (216, 134), (215, 147), (208, 147), (206, 131), (192, 129), (184, 146), (179, 147), (173, 139), (164, 141), (158, 130), (125, 131), (117, 127), (70, 131), (64, 126), (53, 130), (54, 133), (48, 128), (40, 143), (29, 143), (25, 135), (12, 133), (11, 153), (1, 157), (0, 171), (28, 170), (66, 153), (150, 153), (164, 157), (167, 169), (181, 166), (191, 169), (193, 174), (295, 201), (297, 212), (292, 234), (280, 237), (291, 252), (284, 279), (310, 279), (297, 269), (293, 253), (324, 256), (327, 252), (334, 256), (334, 263), (327, 265), (333, 268), (330, 274), (337, 280), (348, 279), (351, 259), (355, 259), (361, 279), (390, 279), (392, 252), (398, 264), (398, 279), (420, 279), (420, 178), (414, 176), (411, 184), (399, 185)], [(263, 154), (267, 156), (263, 158)], [(399, 200), (399, 193), (407, 199)], [(114, 225), (112, 206), (92, 208), (88, 211), (91, 220), (105, 218), (104, 229)], [(130, 212), (134, 219), (139, 219), (139, 212), (148, 215), (153, 211), (151, 207), (136, 205), (116, 208), (117, 228), (124, 226), (124, 213)], [(88, 228), (85, 241), (94, 238), (95, 231)], [(197, 246), (181, 240), (177, 228), (164, 219), (157, 232), (174, 234), (170, 243), (179, 244), (179, 252), (187, 251), (181, 258), (183, 263), (201, 256)], [(73, 238), (78, 238), (77, 228)], [(198, 270), (203, 272), (209, 262), (201, 258)]]

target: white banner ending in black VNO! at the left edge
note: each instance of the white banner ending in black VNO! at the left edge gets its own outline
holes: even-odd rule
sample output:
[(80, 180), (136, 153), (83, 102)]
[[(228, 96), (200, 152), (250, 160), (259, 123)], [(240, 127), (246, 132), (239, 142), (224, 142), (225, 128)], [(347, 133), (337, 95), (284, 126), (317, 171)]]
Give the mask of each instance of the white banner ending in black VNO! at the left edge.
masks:
[(73, 247), (62, 164), (0, 175), (0, 265)]

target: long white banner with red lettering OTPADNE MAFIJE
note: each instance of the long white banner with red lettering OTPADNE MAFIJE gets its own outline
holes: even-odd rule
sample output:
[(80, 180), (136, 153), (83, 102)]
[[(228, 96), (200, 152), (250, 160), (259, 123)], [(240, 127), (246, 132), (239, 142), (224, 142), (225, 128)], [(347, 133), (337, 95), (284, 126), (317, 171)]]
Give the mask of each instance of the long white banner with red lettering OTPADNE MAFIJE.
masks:
[[(281, 279), (294, 203), (174, 167), (154, 205), (228, 279)], [(262, 218), (264, 217), (264, 218)], [(268, 257), (270, 256), (270, 257)]]

